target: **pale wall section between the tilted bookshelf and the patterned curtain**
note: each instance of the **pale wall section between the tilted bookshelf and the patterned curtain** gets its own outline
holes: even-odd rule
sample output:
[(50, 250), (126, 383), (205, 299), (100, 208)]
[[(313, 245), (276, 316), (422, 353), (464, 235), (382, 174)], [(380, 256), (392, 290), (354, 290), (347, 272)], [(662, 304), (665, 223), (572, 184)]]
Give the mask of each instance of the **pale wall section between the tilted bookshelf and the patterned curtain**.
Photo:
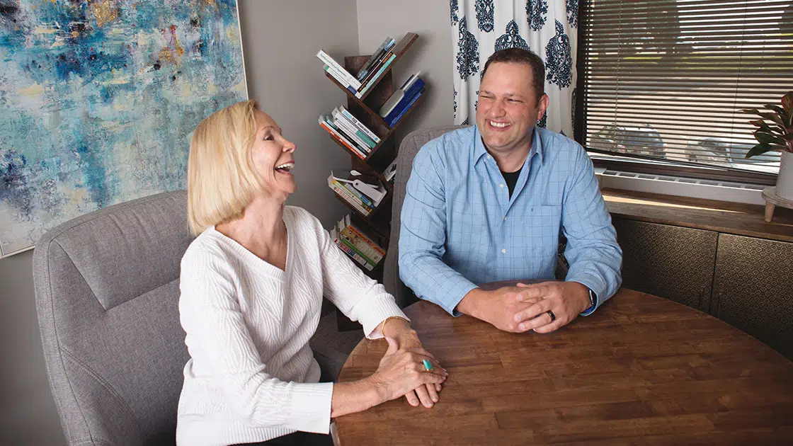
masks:
[(399, 87), (420, 70), (427, 92), (397, 131), (397, 143), (413, 130), (454, 124), (449, 2), (358, 0), (360, 54), (374, 52), (385, 37), (399, 41), (407, 32), (418, 34), (419, 39), (393, 67), (393, 82)]

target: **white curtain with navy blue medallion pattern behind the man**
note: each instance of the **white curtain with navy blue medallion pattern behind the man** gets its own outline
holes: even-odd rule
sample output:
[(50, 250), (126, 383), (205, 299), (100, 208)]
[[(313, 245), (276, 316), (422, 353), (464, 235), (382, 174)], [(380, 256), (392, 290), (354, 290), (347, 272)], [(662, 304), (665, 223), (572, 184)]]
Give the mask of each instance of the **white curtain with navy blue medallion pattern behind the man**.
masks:
[(573, 137), (578, 0), (450, 0), (454, 124), (476, 121), (481, 70), (493, 52), (531, 49), (546, 64), (550, 98), (540, 127)]

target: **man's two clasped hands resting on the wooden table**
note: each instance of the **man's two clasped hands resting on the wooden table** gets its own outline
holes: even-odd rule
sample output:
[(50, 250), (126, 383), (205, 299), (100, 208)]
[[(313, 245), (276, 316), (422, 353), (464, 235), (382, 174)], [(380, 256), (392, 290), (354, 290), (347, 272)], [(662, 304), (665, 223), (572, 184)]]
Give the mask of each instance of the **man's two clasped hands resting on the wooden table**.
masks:
[(465, 294), (457, 308), (505, 332), (550, 333), (569, 324), (590, 305), (589, 291), (580, 283), (543, 282), (487, 291), (477, 288)]

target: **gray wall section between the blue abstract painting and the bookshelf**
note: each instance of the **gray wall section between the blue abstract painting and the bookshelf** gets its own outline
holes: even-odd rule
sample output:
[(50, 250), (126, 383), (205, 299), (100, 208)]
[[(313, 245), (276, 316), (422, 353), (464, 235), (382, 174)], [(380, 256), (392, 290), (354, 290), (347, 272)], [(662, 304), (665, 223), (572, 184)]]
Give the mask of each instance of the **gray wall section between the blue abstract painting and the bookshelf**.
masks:
[(328, 175), (349, 169), (350, 156), (316, 118), (346, 103), (347, 95), (325, 78), (316, 52), (323, 48), (339, 63), (358, 52), (355, 0), (239, 0), (239, 17), (248, 96), (297, 145), (297, 192), (289, 204), (304, 207), (328, 227), (347, 209), (328, 190)]

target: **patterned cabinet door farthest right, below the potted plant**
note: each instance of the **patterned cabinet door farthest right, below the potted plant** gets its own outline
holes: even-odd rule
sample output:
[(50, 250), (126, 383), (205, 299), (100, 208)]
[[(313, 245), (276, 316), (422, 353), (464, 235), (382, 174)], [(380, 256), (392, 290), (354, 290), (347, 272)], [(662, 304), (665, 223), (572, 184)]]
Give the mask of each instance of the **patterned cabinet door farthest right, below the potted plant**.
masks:
[(793, 359), (793, 243), (720, 234), (711, 314)]

